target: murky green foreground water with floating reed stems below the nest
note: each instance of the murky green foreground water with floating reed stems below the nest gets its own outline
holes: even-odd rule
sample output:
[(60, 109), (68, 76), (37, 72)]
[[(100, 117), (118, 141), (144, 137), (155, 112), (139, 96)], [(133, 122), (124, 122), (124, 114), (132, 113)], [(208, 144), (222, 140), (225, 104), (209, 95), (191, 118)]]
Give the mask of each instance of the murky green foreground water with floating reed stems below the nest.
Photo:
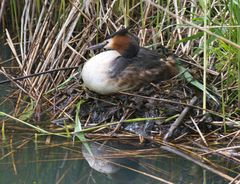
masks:
[(71, 140), (49, 145), (26, 136), (8, 140), (0, 145), (1, 183), (227, 183), (150, 145), (109, 141), (89, 142), (87, 148)]

